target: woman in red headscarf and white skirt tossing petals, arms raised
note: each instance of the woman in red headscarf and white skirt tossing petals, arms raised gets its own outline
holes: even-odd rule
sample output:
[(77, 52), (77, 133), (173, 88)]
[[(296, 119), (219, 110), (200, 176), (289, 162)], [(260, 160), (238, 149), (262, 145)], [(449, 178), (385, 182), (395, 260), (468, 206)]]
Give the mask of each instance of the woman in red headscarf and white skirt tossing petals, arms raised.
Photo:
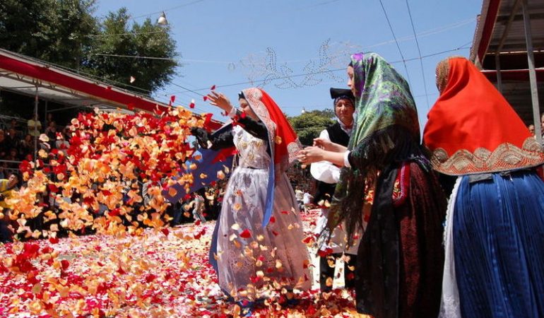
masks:
[(264, 90), (243, 90), (242, 111), (223, 94), (208, 98), (235, 122), (211, 139), (211, 148), (235, 146), (238, 156), (212, 245), (220, 287), (245, 308), (266, 297), (267, 288), (311, 288), (299, 208), (285, 174), (300, 150), (295, 131)]

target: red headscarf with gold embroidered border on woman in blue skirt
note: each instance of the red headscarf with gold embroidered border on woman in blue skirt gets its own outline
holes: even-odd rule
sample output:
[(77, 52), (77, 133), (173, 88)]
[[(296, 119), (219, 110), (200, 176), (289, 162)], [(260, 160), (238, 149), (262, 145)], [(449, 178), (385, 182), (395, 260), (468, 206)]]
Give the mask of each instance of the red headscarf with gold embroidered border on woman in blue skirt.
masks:
[(542, 164), (540, 145), (495, 86), (467, 59), (448, 63), (447, 85), (423, 134), (434, 168), (466, 175)]

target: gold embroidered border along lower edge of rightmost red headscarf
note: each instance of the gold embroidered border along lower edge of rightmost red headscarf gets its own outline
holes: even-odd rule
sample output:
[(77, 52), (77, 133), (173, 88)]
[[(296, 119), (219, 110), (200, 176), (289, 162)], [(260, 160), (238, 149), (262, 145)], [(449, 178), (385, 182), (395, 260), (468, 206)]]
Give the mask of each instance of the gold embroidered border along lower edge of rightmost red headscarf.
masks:
[(461, 149), (451, 157), (443, 148), (437, 148), (432, 153), (431, 162), (435, 170), (446, 175), (471, 175), (542, 165), (544, 154), (536, 139), (529, 137), (522, 148), (502, 143), (492, 152), (485, 148), (478, 148), (474, 153)]

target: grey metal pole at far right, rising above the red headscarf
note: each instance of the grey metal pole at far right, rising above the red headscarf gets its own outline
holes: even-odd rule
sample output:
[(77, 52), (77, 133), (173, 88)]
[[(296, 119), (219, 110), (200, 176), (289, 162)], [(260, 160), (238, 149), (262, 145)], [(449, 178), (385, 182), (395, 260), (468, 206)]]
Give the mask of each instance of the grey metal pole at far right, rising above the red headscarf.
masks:
[(529, 81), (531, 82), (531, 99), (533, 100), (533, 120), (535, 121), (536, 141), (542, 145), (542, 129), (540, 127), (540, 107), (538, 106), (538, 87), (536, 86), (535, 57), (533, 55), (533, 35), (531, 33), (531, 18), (527, 9), (527, 0), (521, 1), (521, 11), (524, 13), (525, 41), (527, 43), (527, 60), (529, 64)]

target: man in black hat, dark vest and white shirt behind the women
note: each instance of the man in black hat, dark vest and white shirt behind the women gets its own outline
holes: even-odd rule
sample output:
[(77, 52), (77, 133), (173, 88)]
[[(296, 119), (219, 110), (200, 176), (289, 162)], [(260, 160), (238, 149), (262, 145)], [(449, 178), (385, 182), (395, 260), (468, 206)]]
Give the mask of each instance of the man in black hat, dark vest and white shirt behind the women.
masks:
[[(341, 88), (331, 88), (331, 98), (334, 100), (334, 112), (336, 114), (336, 123), (321, 131), (319, 138), (328, 139), (333, 143), (338, 143), (342, 146), (348, 146), (350, 141), (351, 131), (353, 129), (353, 113), (355, 112), (355, 100), (351, 90)], [(327, 223), (329, 206), (331, 198), (334, 194), (334, 189), (338, 179), (340, 179), (340, 167), (329, 163), (328, 161), (320, 161), (312, 163), (310, 167), (312, 177), (318, 180), (317, 192), (314, 196), (314, 204), (321, 208), (321, 217), (317, 221), (317, 232), (321, 232)], [(331, 235), (329, 248), (332, 249), (332, 254), (326, 257), (321, 257), (319, 262), (319, 281), (321, 291), (328, 292), (332, 290), (333, 276), (338, 258), (344, 256), (344, 279), (346, 288), (355, 287), (355, 256), (357, 255), (357, 247), (359, 242), (351, 247), (346, 247), (347, 238), (343, 226), (338, 226)]]

